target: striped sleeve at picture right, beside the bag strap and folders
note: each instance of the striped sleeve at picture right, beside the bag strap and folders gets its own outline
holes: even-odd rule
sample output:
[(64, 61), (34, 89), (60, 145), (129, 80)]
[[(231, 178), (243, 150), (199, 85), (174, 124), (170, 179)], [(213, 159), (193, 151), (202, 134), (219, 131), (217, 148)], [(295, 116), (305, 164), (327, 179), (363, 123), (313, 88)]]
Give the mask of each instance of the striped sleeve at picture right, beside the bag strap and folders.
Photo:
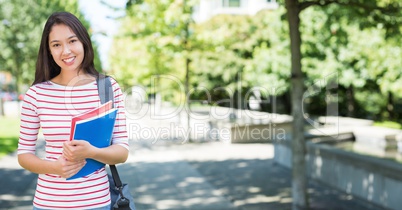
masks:
[(117, 118), (116, 123), (113, 130), (112, 141), (113, 144), (118, 144), (129, 149), (128, 145), (128, 135), (126, 128), (126, 114), (124, 108), (124, 95), (120, 88), (120, 85), (111, 78), (113, 95), (114, 95), (114, 107), (117, 108)]

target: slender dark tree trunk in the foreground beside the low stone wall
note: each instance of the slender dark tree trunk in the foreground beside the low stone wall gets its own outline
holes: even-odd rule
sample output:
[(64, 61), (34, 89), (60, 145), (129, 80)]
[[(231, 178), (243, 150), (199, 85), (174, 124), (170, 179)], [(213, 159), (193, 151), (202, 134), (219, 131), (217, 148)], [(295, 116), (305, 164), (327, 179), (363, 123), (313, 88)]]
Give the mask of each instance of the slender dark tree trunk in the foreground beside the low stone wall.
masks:
[(291, 99), (292, 99), (292, 198), (293, 210), (307, 209), (306, 145), (304, 139), (304, 119), (302, 96), (304, 91), (301, 70), (300, 8), (298, 0), (286, 0), (291, 44)]

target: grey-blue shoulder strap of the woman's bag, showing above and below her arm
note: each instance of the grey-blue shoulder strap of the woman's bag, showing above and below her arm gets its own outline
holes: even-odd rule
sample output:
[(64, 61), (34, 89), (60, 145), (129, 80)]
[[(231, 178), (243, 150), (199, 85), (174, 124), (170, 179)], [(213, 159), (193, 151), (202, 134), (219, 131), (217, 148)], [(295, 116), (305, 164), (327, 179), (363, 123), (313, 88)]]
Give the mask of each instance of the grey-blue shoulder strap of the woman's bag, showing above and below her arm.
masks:
[[(110, 78), (105, 75), (99, 75), (96, 78), (96, 85), (98, 86), (99, 98), (101, 103), (104, 104), (112, 100), (112, 107), (114, 107), (114, 97), (113, 97), (113, 87), (110, 82)], [(113, 181), (116, 188), (120, 189), (123, 184), (121, 183), (119, 173), (115, 165), (109, 165), (110, 171), (112, 172)]]

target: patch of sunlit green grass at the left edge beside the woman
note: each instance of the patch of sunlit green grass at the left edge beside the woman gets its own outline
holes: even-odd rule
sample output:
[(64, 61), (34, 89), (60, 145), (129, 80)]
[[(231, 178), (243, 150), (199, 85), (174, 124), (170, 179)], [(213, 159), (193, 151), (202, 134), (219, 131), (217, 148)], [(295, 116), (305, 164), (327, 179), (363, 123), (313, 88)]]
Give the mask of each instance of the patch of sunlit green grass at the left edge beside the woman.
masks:
[(17, 149), (20, 119), (0, 117), (0, 158)]

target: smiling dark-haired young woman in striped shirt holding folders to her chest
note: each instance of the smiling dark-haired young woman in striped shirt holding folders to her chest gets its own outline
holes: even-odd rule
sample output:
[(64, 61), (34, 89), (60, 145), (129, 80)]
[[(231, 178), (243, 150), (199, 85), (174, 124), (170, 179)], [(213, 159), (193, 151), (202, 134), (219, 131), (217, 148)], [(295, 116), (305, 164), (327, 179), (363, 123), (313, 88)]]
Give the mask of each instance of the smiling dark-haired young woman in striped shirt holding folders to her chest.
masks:
[[(72, 14), (57, 12), (47, 20), (36, 63), (35, 81), (21, 110), (18, 161), (39, 174), (34, 209), (110, 209), (105, 168), (67, 180), (91, 158), (118, 164), (128, 157), (123, 94), (111, 79), (118, 109), (112, 145), (96, 148), (85, 140), (69, 141), (71, 118), (100, 105), (90, 37)], [(39, 129), (45, 138), (45, 157), (35, 155)], [(97, 129), (88, 132), (97, 132)]]

